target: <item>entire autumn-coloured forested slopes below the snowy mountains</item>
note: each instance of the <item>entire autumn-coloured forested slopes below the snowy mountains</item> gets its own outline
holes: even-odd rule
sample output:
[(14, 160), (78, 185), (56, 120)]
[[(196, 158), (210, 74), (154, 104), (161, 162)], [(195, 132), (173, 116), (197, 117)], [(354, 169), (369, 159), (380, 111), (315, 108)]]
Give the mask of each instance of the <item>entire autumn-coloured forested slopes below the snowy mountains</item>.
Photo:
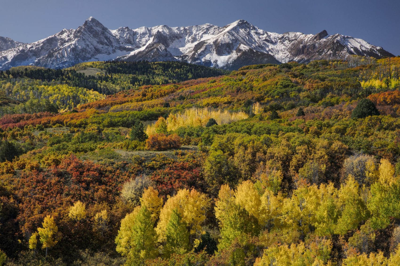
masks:
[(0, 265), (400, 261), (400, 58), (0, 71)]

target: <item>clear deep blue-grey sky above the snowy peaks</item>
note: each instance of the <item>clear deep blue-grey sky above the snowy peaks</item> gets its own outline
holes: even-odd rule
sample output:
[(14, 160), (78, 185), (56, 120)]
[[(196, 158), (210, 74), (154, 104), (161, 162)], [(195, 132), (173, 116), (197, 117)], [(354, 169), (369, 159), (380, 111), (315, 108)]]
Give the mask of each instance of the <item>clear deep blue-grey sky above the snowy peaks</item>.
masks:
[(244, 19), (268, 32), (340, 33), (400, 55), (400, 0), (0, 0), (0, 36), (34, 42), (93, 16), (109, 29), (225, 26)]

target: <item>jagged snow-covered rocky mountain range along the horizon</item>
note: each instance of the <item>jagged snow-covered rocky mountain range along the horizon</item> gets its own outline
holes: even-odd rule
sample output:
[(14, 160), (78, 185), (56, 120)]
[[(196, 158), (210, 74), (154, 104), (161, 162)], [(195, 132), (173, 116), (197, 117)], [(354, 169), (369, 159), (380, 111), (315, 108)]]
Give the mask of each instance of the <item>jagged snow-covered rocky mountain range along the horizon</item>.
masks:
[(32, 44), (7, 46), (3, 51), (1, 47), (0, 37), (0, 69), (22, 65), (60, 68), (102, 60), (184, 61), (237, 69), (250, 64), (308, 62), (352, 54), (393, 56), (382, 47), (350, 36), (329, 36), (325, 30), (315, 35), (278, 34), (260, 30), (245, 20), (224, 27), (204, 24), (109, 30), (90, 17), (76, 30), (64, 29)]

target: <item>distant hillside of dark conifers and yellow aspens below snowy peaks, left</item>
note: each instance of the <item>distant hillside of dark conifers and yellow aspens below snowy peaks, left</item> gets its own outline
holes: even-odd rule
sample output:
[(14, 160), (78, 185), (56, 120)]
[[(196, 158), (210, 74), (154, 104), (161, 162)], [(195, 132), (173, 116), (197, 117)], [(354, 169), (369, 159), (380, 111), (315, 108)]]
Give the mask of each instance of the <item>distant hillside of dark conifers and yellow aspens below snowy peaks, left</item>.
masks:
[(0, 70), (0, 116), (68, 111), (125, 89), (225, 73), (181, 62), (88, 62), (68, 69), (12, 67)]

